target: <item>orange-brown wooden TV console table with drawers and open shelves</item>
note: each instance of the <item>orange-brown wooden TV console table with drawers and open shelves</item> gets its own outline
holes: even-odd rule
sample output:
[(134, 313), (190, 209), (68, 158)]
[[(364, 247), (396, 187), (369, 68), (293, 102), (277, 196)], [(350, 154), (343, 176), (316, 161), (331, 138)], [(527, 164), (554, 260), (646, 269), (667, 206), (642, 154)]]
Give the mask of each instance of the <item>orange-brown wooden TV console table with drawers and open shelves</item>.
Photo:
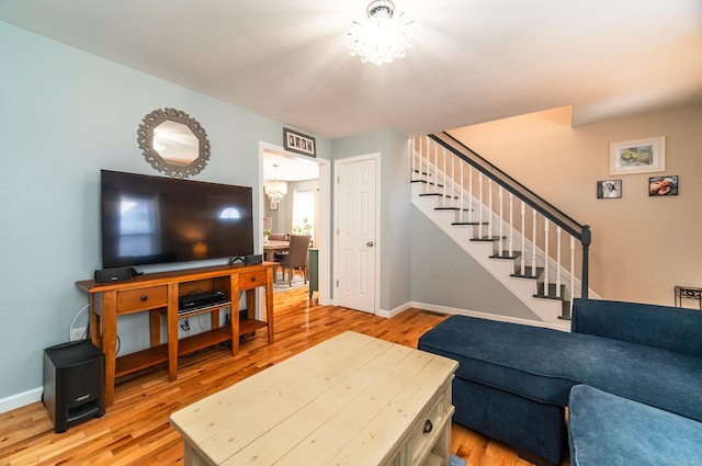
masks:
[[(231, 354), (239, 351), (239, 336), (268, 328), (273, 342), (273, 263), (217, 265), (137, 275), (131, 281), (76, 282), (90, 295), (90, 338), (105, 354), (105, 406), (114, 400), (114, 380), (168, 361), (168, 378), (178, 377), (178, 356), (231, 341)], [(265, 287), (265, 321), (256, 319), (256, 289)], [(210, 312), (212, 330), (178, 340), (179, 297), (194, 292), (222, 289), (230, 302), (189, 312)], [(247, 318), (239, 321), (239, 292), (246, 292)], [(229, 325), (219, 325), (219, 310), (230, 307)], [(116, 357), (117, 317), (149, 312), (150, 348)], [(161, 343), (161, 315), (167, 316), (168, 341)]]

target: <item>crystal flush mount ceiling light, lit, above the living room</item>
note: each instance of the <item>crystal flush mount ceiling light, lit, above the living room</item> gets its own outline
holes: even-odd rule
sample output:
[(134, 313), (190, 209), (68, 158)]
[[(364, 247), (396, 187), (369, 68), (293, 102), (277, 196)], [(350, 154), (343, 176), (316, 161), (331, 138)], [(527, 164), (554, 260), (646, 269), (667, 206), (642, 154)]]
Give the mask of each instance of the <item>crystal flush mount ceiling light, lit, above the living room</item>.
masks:
[(351, 56), (361, 57), (361, 62), (374, 65), (392, 64), (403, 58), (405, 50), (414, 45), (411, 21), (395, 14), (395, 3), (374, 0), (365, 10), (367, 18), (354, 21), (355, 29), (349, 33)]

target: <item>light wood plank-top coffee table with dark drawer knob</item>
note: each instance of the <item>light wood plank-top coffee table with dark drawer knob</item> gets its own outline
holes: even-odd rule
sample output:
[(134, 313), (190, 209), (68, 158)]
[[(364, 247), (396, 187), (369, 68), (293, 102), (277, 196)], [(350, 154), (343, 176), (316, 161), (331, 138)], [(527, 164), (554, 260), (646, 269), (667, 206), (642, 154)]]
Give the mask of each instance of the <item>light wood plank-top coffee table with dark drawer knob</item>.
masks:
[(346, 332), (171, 416), (186, 465), (448, 465), (455, 361)]

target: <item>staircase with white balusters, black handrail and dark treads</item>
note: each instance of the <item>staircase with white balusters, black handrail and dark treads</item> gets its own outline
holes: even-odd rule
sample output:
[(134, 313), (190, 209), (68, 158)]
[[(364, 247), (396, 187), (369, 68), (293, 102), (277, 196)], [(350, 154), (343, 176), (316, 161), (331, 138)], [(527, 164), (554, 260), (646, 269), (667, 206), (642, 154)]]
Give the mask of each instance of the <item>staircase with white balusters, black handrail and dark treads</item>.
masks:
[(412, 139), (412, 203), (542, 321), (588, 297), (590, 230), (450, 135)]

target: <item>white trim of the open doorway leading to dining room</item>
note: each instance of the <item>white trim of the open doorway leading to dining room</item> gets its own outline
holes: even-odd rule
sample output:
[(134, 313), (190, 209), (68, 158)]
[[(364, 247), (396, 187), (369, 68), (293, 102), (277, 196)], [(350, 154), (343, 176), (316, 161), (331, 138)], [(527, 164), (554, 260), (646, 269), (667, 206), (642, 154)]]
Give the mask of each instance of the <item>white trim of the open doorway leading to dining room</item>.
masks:
[[(264, 204), (263, 198), (265, 193), (263, 192), (263, 152), (279, 152), (285, 154), (286, 156), (293, 159), (301, 159), (305, 161), (313, 161), (319, 164), (319, 218), (315, 219), (318, 225), (317, 234), (318, 238), (315, 238), (316, 246), (319, 249), (319, 289), (317, 291), (317, 300), (320, 305), (329, 305), (330, 300), (330, 287), (331, 287), (331, 219), (330, 215), (326, 213), (330, 212), (330, 186), (331, 186), (331, 162), (327, 159), (314, 158), (310, 159), (306, 156), (301, 156), (295, 152), (291, 152), (285, 150), (281, 146), (276, 146), (274, 144), (260, 141), (259, 143), (259, 187), (257, 198), (259, 200), (259, 217), (263, 219), (264, 214)], [(257, 246), (257, 250), (263, 250), (263, 224), (258, 225), (254, 228), (254, 231), (258, 231), (254, 245)]]

